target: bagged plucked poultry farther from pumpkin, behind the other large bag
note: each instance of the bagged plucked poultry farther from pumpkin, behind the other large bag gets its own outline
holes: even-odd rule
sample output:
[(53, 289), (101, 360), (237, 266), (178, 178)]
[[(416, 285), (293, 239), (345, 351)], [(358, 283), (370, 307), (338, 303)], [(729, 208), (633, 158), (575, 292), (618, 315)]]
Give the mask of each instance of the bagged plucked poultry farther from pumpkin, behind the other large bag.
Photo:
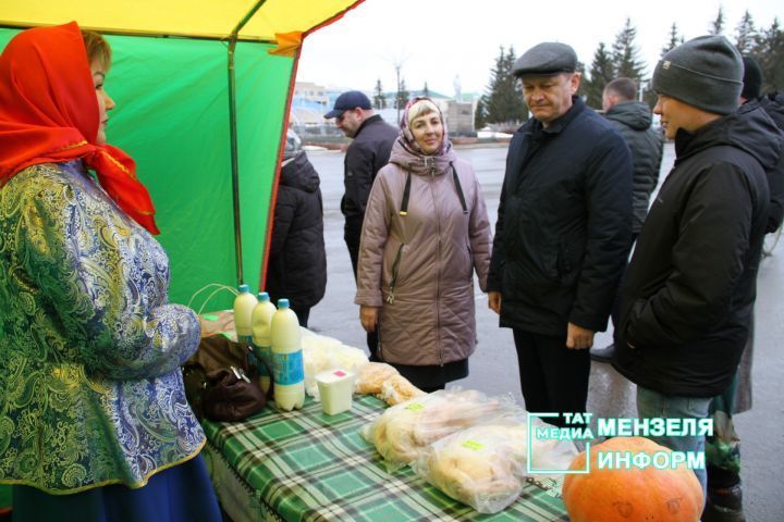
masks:
[(362, 434), (384, 458), (387, 470), (394, 471), (439, 438), (519, 411), (511, 396), (488, 397), (471, 389), (438, 390), (389, 408), (363, 426)]

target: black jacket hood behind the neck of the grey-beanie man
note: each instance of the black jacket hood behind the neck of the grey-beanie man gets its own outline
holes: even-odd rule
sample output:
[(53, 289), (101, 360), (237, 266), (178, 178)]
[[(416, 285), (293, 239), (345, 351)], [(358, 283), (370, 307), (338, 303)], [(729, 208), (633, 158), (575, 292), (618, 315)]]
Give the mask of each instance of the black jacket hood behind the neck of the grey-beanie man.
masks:
[(746, 103), (737, 112), (722, 116), (695, 134), (678, 129), (675, 136), (675, 163), (708, 147), (728, 145), (754, 156), (764, 170), (779, 161), (784, 134), (759, 103)]

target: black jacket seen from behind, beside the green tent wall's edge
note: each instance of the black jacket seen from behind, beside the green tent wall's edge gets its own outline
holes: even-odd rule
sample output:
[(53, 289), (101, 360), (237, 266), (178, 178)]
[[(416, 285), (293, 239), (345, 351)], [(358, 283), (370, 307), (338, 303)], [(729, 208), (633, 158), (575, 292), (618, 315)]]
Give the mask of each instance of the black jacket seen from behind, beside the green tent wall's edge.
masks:
[(272, 302), (289, 298), (294, 310), (310, 308), (324, 295), (321, 190), (318, 173), (305, 152), (281, 167), (266, 287)]

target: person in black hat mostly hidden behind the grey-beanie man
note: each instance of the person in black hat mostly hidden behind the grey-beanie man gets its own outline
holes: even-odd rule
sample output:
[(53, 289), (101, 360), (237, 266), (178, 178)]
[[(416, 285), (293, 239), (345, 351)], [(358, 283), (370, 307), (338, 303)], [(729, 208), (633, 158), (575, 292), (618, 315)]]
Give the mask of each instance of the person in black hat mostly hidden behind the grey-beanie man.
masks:
[[(780, 129), (784, 129), (784, 97), (781, 94), (760, 97), (762, 72), (757, 61), (744, 57), (744, 87), (738, 112), (762, 107)], [(777, 120), (776, 120), (777, 117)], [(784, 201), (784, 154), (780, 154), (774, 169), (765, 169), (770, 189), (770, 204), (765, 232), (775, 232), (782, 223)], [(733, 417), (751, 409), (751, 361), (754, 357), (755, 321), (749, 324), (746, 348), (740, 358), (737, 375), (732, 384), (713, 398), (710, 415), (713, 435), (706, 442), (708, 471), (708, 501), (703, 522), (736, 522), (745, 520), (743, 489), (740, 487), (740, 439), (735, 432)]]

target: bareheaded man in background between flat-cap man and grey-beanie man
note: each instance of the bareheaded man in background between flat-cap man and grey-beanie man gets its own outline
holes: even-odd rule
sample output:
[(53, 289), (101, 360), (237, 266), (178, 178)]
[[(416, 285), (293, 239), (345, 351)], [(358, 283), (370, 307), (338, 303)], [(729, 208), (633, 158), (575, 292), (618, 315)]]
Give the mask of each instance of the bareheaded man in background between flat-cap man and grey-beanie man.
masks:
[[(615, 78), (610, 82), (602, 95), (602, 109), (604, 109), (604, 117), (623, 136), (632, 152), (634, 165), (632, 243), (634, 244), (648, 215), (650, 196), (659, 183), (664, 142), (659, 133), (651, 128), (653, 115), (650, 108), (637, 101), (637, 84), (634, 79)], [(610, 362), (612, 353), (613, 345), (604, 348), (593, 347), (590, 350), (591, 359), (600, 362)]]

